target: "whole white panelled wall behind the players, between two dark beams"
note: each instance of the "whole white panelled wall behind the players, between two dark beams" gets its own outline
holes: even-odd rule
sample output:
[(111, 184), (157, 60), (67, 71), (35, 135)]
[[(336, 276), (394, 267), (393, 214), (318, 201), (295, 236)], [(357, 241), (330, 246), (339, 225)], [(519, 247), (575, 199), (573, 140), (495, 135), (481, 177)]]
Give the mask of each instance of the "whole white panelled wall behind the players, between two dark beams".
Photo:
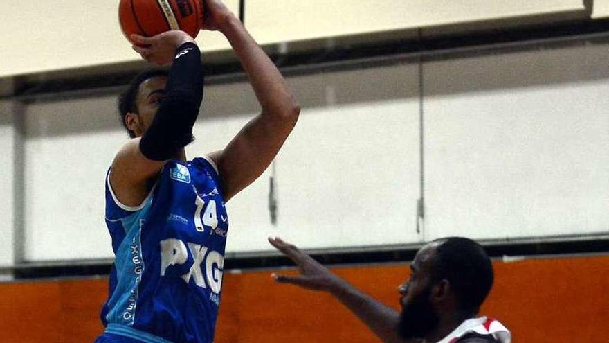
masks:
[[(269, 235), (332, 248), (605, 234), (608, 59), (606, 45), (575, 45), (426, 61), (421, 83), (406, 60), (289, 77), (300, 121), (273, 166), (228, 203), (228, 254), (269, 251)], [(188, 155), (224, 148), (258, 111), (245, 82), (208, 86)], [(28, 103), (23, 120), (22, 257), (111, 258), (102, 182), (127, 139), (116, 93)], [(1, 203), (16, 213), (12, 197)]]

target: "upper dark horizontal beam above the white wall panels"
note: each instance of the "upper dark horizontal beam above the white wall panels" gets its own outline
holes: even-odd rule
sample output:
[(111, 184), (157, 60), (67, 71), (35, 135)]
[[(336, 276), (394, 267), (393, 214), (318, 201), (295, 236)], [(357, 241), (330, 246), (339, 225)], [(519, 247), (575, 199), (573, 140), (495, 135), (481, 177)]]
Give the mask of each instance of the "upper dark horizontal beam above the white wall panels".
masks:
[[(398, 33), (396, 37), (401, 37)], [(372, 39), (374, 40), (374, 39)], [(467, 55), (483, 55), (498, 51), (517, 51), (531, 47), (552, 48), (569, 44), (595, 42), (609, 43), (609, 19), (585, 21), (569, 25), (539, 26), (526, 30), (502, 30), (476, 35), (391, 41), (379, 40), (372, 44), (353, 44), (350, 39), (332, 40), (323, 49), (308, 51), (298, 44), (265, 46), (267, 53), (282, 69), (284, 75), (298, 75), (337, 69), (356, 69), (379, 64), (394, 64), (412, 58), (434, 59), (459, 58)], [(320, 45), (320, 44), (313, 44)], [(241, 65), (226, 55), (215, 61), (205, 62), (206, 81), (210, 84), (245, 80)], [(208, 61), (209, 59), (206, 59)], [(1, 99), (19, 101), (52, 101), (55, 99), (80, 98), (103, 94), (116, 94), (125, 87), (146, 64), (130, 64), (116, 73), (102, 73), (98, 69), (80, 70), (78, 75), (70, 72), (28, 76), (11, 82), (13, 94), (0, 95)]]

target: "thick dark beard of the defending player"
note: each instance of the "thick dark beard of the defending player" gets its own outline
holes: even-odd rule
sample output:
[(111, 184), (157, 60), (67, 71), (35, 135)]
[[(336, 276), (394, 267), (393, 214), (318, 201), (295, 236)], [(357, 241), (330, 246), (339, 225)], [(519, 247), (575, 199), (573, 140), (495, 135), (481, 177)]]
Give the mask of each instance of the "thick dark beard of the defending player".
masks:
[(429, 286), (402, 309), (397, 331), (403, 339), (423, 338), (437, 326), (439, 317), (429, 304), (430, 294)]

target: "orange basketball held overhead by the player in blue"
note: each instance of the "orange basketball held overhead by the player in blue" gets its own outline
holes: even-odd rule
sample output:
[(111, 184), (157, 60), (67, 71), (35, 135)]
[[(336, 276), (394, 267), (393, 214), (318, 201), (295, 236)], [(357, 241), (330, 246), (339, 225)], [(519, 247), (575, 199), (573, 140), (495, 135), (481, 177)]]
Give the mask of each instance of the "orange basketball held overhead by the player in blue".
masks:
[(203, 26), (203, 0), (120, 0), (118, 20), (129, 42), (134, 33), (152, 37), (168, 30), (194, 38)]

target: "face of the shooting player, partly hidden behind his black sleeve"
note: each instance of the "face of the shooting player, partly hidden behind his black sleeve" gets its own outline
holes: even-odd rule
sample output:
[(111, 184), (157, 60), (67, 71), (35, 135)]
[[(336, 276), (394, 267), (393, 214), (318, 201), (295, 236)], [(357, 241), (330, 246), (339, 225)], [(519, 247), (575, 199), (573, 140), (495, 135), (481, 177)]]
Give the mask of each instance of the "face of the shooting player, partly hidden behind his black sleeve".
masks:
[(134, 130), (136, 136), (144, 134), (152, 124), (152, 120), (158, 112), (158, 104), (162, 98), (165, 98), (166, 85), (167, 78), (165, 76), (155, 76), (141, 83), (136, 97), (139, 112), (137, 116), (140, 124), (139, 132)]

